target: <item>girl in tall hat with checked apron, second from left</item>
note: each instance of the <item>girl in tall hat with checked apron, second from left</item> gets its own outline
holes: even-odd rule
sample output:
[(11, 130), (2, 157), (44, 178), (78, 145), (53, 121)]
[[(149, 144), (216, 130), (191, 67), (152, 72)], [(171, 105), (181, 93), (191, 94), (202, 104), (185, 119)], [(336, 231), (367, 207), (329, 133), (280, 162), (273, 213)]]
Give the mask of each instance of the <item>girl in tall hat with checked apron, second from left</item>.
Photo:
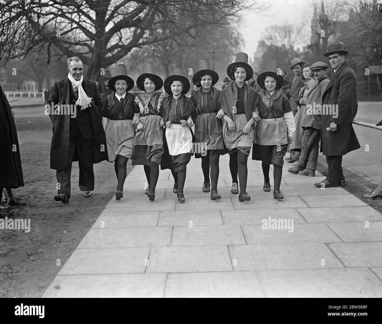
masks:
[(159, 177), (159, 164), (162, 161), (163, 119), (160, 114), (165, 96), (157, 92), (163, 86), (162, 79), (156, 75), (152, 63), (144, 64), (144, 73), (137, 79), (137, 87), (144, 91), (135, 97), (136, 110), (133, 124), (137, 126), (134, 139), (134, 152), (131, 165), (143, 164), (147, 179), (145, 193), (149, 200), (155, 199), (155, 187)]

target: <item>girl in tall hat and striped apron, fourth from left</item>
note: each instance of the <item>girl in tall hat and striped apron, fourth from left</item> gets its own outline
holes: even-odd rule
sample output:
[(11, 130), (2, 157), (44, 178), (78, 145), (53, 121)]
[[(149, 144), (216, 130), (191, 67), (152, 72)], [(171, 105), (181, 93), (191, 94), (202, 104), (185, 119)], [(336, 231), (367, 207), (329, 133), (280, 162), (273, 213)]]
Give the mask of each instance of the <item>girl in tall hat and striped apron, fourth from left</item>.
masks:
[[(199, 71), (193, 76), (193, 83), (199, 90), (191, 95), (191, 100), (196, 105), (193, 112), (195, 121), (195, 148), (201, 148), (201, 152), (195, 151), (195, 157), (202, 159), (204, 175), (203, 192), (211, 191), (211, 199), (220, 199), (217, 192), (219, 178), (219, 158), (224, 148), (222, 137), (222, 120), (216, 118), (218, 112), (218, 98), (220, 90), (213, 87), (219, 80), (218, 74), (211, 70), (210, 62), (202, 59), (198, 62)], [(211, 167), (211, 182), (210, 182)]]

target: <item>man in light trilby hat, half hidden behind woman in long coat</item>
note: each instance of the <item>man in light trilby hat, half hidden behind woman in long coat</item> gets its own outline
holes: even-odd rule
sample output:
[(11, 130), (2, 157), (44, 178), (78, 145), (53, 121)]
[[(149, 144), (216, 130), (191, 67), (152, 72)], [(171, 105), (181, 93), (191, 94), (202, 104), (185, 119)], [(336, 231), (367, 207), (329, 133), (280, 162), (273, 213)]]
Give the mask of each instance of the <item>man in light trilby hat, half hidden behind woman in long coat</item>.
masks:
[[(292, 107), (293, 116), (296, 116), (297, 109), (298, 109), (298, 97), (300, 93), (301, 87), (304, 85), (303, 81), (303, 65), (305, 64), (305, 61), (301, 61), (299, 58), (294, 58), (290, 61), (291, 65), (289, 66), (290, 70), (293, 70), (293, 73), (295, 74), (295, 77), (292, 80), (292, 87), (290, 90), (290, 105)], [(300, 152), (296, 150), (290, 150), (290, 156), (289, 158), (286, 158), (285, 160), (288, 160), (289, 163), (293, 163), (298, 160), (300, 156)]]

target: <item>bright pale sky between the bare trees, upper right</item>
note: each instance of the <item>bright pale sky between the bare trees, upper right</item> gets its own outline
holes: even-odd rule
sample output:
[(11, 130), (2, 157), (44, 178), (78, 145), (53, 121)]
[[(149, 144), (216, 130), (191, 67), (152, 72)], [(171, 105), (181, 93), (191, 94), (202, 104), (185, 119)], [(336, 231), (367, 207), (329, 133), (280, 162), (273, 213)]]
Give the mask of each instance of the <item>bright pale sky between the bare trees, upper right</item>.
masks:
[[(244, 38), (243, 52), (246, 52), (253, 59), (253, 53), (256, 52), (257, 43), (261, 39), (261, 33), (269, 26), (274, 24), (301, 23), (302, 9), (304, 3), (310, 0), (264, 0), (272, 4), (272, 7), (265, 12), (269, 16), (250, 13), (245, 16), (245, 27), (240, 29)], [(272, 15), (272, 16), (271, 16)], [(310, 28), (309, 26), (307, 26)], [(296, 45), (303, 45), (296, 44)]]

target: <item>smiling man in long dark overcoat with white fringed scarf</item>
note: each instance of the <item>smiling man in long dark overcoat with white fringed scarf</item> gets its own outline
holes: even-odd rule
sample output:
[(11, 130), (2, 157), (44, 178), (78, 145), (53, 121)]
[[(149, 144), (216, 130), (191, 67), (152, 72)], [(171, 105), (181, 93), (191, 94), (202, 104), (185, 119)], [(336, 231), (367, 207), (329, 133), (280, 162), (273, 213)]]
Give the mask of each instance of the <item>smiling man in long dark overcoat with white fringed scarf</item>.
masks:
[[(68, 76), (56, 81), (47, 101), (47, 114), (53, 123), (50, 168), (56, 169), (56, 201), (68, 203), (72, 161), (78, 161), (79, 188), (85, 197), (94, 190), (93, 163), (107, 160), (102, 110), (104, 102), (94, 81), (82, 75), (82, 61), (68, 59)], [(55, 105), (60, 105), (60, 114)]]

